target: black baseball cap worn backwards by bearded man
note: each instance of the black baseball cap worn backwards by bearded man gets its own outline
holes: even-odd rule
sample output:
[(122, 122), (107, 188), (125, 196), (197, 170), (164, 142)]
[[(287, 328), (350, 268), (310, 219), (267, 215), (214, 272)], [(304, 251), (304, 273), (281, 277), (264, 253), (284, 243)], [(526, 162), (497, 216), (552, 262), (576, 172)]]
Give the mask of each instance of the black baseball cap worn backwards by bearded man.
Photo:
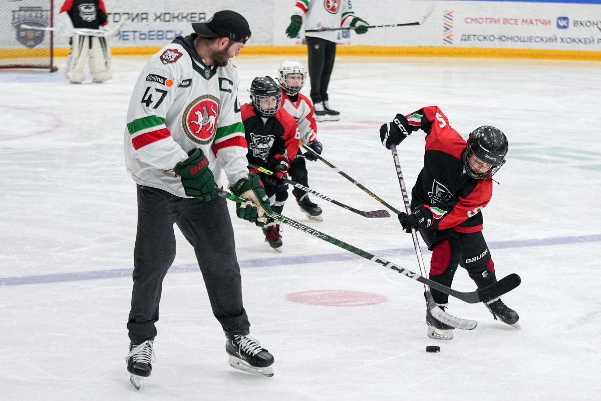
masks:
[(246, 43), (251, 37), (248, 21), (236, 11), (231, 10), (217, 11), (207, 22), (192, 23), (192, 29), (198, 36), (205, 38), (223, 36), (233, 41)]

